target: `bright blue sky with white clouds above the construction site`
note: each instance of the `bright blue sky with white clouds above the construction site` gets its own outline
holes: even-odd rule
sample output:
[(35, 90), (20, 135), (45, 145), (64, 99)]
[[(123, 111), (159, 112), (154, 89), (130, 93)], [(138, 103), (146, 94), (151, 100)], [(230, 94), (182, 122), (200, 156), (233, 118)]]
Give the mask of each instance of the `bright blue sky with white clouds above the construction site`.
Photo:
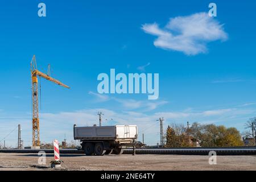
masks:
[[(46, 3), (46, 17), (38, 16), (40, 2)], [(42, 79), (42, 142), (63, 140), (65, 134), (72, 140), (73, 124), (98, 123), (98, 111), (114, 119), (104, 125), (138, 125), (139, 139), (144, 133), (148, 144), (159, 142), (159, 117), (166, 119), (164, 127), (189, 121), (243, 131), (256, 116), (255, 1), (214, 1), (217, 17), (206, 18), (204, 28), (195, 26), (193, 18), (205, 18), (210, 2), (2, 3), (0, 140), (20, 123), (24, 146), (31, 144), (34, 54), (40, 71), (47, 72), (51, 64), (52, 77), (71, 86), (68, 90)], [(164, 34), (156, 35), (159, 31)], [(158, 100), (148, 101), (145, 94), (97, 94), (98, 74), (110, 68), (141, 73), (144, 65), (144, 72), (159, 73)], [(16, 135), (11, 133), (7, 144), (15, 146)]]

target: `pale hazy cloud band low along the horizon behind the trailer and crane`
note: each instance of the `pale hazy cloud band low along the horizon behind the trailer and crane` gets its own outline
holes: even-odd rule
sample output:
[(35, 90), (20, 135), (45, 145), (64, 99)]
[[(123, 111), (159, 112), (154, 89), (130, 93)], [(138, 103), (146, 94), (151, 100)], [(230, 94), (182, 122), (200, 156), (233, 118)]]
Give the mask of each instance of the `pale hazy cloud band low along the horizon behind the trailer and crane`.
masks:
[[(159, 142), (159, 117), (164, 117), (164, 129), (170, 123), (216, 123), (217, 125), (226, 125), (227, 127), (238, 127), (243, 130), (243, 125), (250, 117), (253, 117), (255, 109), (244, 109), (244, 107), (232, 107), (226, 109), (213, 110), (183, 110), (166, 112), (143, 112), (143, 111), (114, 111), (103, 108), (82, 109), (70, 112), (60, 113), (41, 113), (40, 114), (40, 138), (42, 142), (51, 142), (53, 139), (63, 140), (66, 134), (68, 141), (73, 140), (73, 125), (92, 126), (98, 125), (98, 111), (104, 113), (102, 125), (113, 125), (105, 119), (113, 118), (114, 125), (137, 125), (139, 130), (139, 140), (142, 139), (142, 133), (145, 135), (147, 144), (156, 144)], [(1, 116), (1, 115), (0, 115)], [(22, 140), (24, 146), (31, 145), (31, 115), (26, 114), (23, 117), (9, 118), (2, 115), (0, 117), (0, 139), (4, 138), (14, 127), (21, 124)], [(16, 146), (17, 131), (14, 131), (6, 138), (6, 143), (10, 146)]]

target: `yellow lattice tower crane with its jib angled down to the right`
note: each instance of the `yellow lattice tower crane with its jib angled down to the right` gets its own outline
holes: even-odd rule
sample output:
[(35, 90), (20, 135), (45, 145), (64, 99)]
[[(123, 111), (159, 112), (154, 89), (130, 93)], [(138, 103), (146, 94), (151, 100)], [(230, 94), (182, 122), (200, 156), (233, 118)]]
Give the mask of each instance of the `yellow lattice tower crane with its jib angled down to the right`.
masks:
[(60, 86), (64, 86), (69, 89), (69, 86), (61, 83), (59, 80), (56, 80), (50, 76), (50, 70), (48, 65), (48, 74), (44, 74), (38, 71), (36, 67), (35, 55), (32, 58), (30, 63), (31, 67), (31, 78), (32, 78), (32, 146), (40, 147), (40, 135), (39, 135), (39, 106), (38, 106), (38, 76), (43, 77), (46, 80), (55, 82)]

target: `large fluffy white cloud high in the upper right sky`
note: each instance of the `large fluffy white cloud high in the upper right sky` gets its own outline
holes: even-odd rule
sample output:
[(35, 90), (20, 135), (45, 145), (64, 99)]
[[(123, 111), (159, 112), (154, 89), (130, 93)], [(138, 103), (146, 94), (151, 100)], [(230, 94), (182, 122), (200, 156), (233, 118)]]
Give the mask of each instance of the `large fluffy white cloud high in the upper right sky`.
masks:
[(164, 28), (157, 23), (143, 24), (144, 32), (158, 36), (154, 45), (163, 49), (180, 51), (186, 55), (207, 52), (207, 43), (226, 40), (223, 25), (207, 13), (171, 18)]

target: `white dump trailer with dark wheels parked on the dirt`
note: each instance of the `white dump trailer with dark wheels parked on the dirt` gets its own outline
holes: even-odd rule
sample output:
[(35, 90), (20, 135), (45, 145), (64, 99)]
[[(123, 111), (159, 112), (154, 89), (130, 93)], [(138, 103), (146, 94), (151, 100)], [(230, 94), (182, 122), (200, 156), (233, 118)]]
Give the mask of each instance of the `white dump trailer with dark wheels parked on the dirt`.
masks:
[(74, 139), (80, 140), (86, 155), (109, 155), (123, 153), (123, 148), (141, 147), (137, 143), (136, 125), (77, 127), (74, 125)]

